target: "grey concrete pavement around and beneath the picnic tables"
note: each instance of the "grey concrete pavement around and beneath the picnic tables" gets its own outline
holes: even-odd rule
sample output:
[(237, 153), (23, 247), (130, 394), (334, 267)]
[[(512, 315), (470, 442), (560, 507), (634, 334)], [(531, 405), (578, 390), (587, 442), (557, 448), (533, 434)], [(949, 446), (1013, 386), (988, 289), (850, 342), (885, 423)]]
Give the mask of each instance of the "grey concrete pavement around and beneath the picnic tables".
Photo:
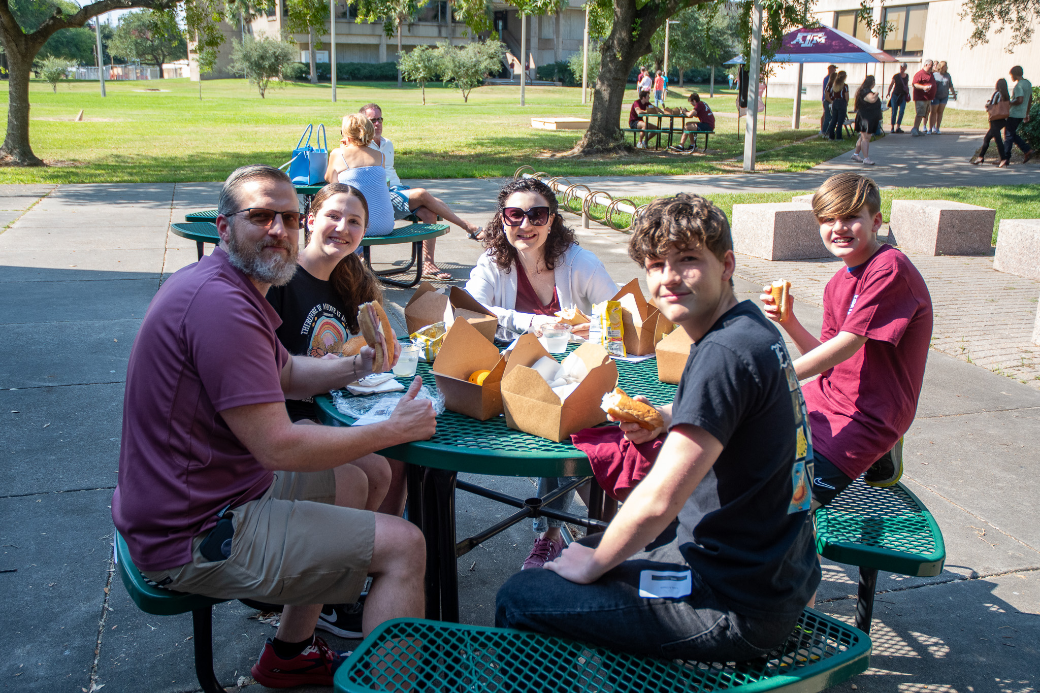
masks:
[[(467, 219), (484, 223), (493, 210), (493, 182), (426, 183)], [(8, 652), (0, 678), (10, 690), (198, 688), (187, 639), (190, 618), (144, 614), (112, 579), (109, 506), (130, 345), (162, 278), (196, 259), (194, 244), (168, 233), (167, 225), (186, 211), (214, 207), (218, 187), (60, 186), (42, 199), (37, 195), (46, 189), (0, 189), (0, 208), (24, 212), (0, 234), (0, 339), (6, 345), (0, 363), (0, 417), (5, 418), (0, 449), (8, 460), (8, 482), (0, 490), (0, 570), (16, 570), (0, 574), (9, 603), (0, 633), (0, 647)], [(802, 183), (798, 189), (807, 187)], [(574, 217), (568, 221), (578, 225)], [(579, 235), (616, 281), (639, 275), (625, 251), (626, 236), (602, 228)], [(468, 276), (478, 252), (458, 230), (438, 243), (440, 264), (457, 279)], [(385, 262), (402, 257), (384, 248), (374, 255)], [(814, 264), (822, 266), (804, 270), (796, 282), (804, 287), (799, 315), (810, 329), (818, 329), (821, 320), (811, 277), (833, 271)], [(796, 276), (798, 269), (759, 266), (744, 257), (738, 265), (742, 298), (757, 296), (762, 276), (781, 271)], [(966, 266), (964, 271), (1005, 276), (984, 265)], [(1019, 279), (1013, 281), (1018, 286)], [(938, 326), (954, 306), (942, 302), (941, 283), (929, 275), (929, 284)], [(978, 291), (1002, 300), (1007, 295), (997, 285)], [(387, 292), (398, 326), (410, 293)], [(860, 690), (1036, 690), (1037, 439), (1040, 392), (931, 352), (917, 418), (907, 435), (905, 480), (942, 528), (946, 569), (931, 579), (880, 577), (887, 591), (875, 609), (873, 668), (854, 682)], [(521, 497), (534, 489), (526, 478), (474, 480)], [(505, 512), (460, 494), (460, 535)], [(515, 526), (460, 561), (465, 622), (492, 622), (497, 587), (519, 567), (534, 540), (528, 528)], [(856, 570), (836, 564), (825, 564), (824, 570), (820, 608), (851, 620)], [(233, 686), (274, 631), (251, 619), (255, 612), (238, 603), (220, 605), (214, 614), (216, 671)], [(352, 644), (330, 641), (343, 648)]]

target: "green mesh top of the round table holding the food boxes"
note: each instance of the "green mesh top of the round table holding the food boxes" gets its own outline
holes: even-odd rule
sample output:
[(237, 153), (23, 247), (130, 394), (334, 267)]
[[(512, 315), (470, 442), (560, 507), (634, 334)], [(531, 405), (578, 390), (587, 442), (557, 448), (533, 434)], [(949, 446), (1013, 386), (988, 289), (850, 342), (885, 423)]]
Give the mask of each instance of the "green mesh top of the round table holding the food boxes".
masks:
[[(404, 342), (404, 340), (402, 340)], [(568, 346), (568, 353), (577, 345)], [(654, 358), (640, 364), (618, 361), (618, 385), (629, 395), (645, 395), (653, 404), (669, 404), (675, 396), (675, 385), (657, 380)], [(416, 375), (424, 384), (436, 390), (430, 364), (420, 362)], [(407, 385), (411, 378), (398, 378)], [(349, 397), (345, 393), (344, 396)], [(340, 414), (328, 395), (314, 398), (322, 423), (349, 425), (354, 420)], [(613, 425), (613, 424), (610, 424)], [(553, 443), (546, 438), (514, 430), (505, 425), (505, 417), (477, 421), (454, 411), (437, 417), (437, 433), (428, 441), (418, 441), (388, 448), (384, 454), (414, 464), (475, 474), (499, 476), (591, 476), (592, 468), (584, 453), (570, 442)]]

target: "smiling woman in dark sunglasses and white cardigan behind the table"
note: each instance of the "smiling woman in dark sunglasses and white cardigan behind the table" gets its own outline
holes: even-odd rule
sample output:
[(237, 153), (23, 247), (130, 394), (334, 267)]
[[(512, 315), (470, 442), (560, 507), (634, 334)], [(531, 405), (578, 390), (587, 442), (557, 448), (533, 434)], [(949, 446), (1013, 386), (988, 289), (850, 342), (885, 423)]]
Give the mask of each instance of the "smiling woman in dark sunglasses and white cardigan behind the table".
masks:
[[(593, 303), (618, 292), (599, 258), (579, 247), (574, 230), (564, 225), (556, 195), (541, 181), (514, 181), (499, 191), (498, 212), (484, 230), (484, 242), (488, 249), (470, 272), (466, 290), (498, 316), (499, 325), (515, 332), (541, 336), (546, 324), (557, 322), (556, 311), (576, 306), (590, 315)], [(575, 325), (574, 331), (588, 336), (589, 324)], [(569, 480), (539, 479), (538, 495)], [(567, 512), (573, 498), (570, 491), (546, 507)], [(539, 536), (522, 568), (542, 567), (560, 556), (562, 526), (558, 519), (535, 518)]]

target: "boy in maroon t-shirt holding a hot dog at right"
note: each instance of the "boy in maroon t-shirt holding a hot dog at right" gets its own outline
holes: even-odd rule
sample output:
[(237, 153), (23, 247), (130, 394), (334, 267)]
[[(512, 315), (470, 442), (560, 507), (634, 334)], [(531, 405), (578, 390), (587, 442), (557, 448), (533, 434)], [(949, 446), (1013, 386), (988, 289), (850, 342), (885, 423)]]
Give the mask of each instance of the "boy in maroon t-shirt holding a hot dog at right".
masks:
[(881, 195), (859, 174), (829, 178), (812, 198), (824, 245), (844, 267), (824, 290), (824, 324), (815, 339), (787, 315), (770, 287), (765, 314), (802, 352), (795, 361), (812, 431), (813, 507), (827, 505), (866, 472), (873, 486), (903, 474), (902, 437), (917, 410), (932, 339), (932, 299), (910, 260), (878, 243)]

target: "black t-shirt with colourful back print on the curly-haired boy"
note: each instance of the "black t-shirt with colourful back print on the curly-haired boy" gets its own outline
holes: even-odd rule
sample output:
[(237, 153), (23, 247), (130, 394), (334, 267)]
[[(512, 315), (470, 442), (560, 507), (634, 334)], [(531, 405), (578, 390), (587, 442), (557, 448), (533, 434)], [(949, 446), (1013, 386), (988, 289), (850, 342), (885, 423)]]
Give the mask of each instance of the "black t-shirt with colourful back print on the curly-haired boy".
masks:
[(751, 302), (690, 349), (672, 426), (693, 424), (722, 454), (679, 512), (680, 549), (734, 611), (787, 618), (820, 584), (812, 528), (812, 436), (777, 328)]

